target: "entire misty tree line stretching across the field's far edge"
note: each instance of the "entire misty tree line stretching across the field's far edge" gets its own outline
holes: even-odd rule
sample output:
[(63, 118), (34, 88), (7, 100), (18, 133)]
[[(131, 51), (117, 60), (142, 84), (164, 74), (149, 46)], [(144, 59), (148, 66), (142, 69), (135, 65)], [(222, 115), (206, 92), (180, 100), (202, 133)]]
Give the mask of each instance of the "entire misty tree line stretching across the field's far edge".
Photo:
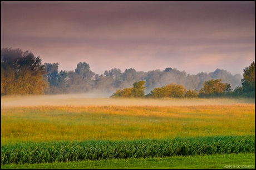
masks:
[[(28, 50), (1, 49), (1, 95), (109, 92), (127, 97), (131, 92), (134, 97), (141, 97), (143, 94), (147, 94), (146, 97), (174, 97), (178, 94), (170, 92), (170, 89), (180, 89), (184, 97), (255, 96), (252, 83), (255, 82), (255, 71), (252, 71), (253, 65), (255, 70), (254, 62), (244, 69), (243, 79), (239, 74), (232, 75), (221, 69), (209, 74), (201, 72), (190, 75), (175, 68), (147, 72), (130, 68), (124, 73), (114, 68), (99, 75), (93, 73), (86, 62), (78, 63), (72, 71), (58, 71), (58, 65), (42, 64), (40, 56), (36, 57)], [(141, 81), (144, 81), (142, 86)], [(139, 86), (143, 88), (140, 89)], [(219, 92), (207, 92), (215, 89)], [(178, 96), (182, 96), (181, 92)]]

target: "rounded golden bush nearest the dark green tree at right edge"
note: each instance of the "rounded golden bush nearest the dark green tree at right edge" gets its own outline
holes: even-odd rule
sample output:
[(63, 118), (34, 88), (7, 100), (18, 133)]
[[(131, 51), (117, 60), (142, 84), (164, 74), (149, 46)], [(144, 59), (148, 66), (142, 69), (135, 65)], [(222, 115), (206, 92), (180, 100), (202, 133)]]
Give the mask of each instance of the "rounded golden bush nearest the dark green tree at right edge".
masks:
[(232, 91), (228, 83), (221, 83), (221, 79), (211, 79), (204, 82), (204, 87), (199, 90), (199, 97), (221, 97)]

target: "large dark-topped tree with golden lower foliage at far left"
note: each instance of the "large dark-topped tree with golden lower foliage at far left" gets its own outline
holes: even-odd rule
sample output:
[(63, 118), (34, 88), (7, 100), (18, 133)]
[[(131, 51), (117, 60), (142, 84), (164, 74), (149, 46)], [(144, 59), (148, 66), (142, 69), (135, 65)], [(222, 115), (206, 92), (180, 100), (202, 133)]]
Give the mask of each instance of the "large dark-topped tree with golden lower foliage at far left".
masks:
[(19, 48), (1, 49), (1, 95), (44, 94), (44, 74), (40, 56)]

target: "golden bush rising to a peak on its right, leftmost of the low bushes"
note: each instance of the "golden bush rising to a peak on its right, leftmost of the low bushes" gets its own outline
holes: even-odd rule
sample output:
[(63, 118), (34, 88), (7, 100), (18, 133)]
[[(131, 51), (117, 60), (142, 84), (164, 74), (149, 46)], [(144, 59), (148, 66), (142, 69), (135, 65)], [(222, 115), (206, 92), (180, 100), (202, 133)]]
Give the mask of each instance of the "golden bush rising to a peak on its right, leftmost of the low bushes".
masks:
[(144, 84), (145, 81), (135, 82), (133, 87), (125, 88), (123, 90), (117, 89), (110, 97), (145, 97), (144, 89), (146, 87), (144, 87)]

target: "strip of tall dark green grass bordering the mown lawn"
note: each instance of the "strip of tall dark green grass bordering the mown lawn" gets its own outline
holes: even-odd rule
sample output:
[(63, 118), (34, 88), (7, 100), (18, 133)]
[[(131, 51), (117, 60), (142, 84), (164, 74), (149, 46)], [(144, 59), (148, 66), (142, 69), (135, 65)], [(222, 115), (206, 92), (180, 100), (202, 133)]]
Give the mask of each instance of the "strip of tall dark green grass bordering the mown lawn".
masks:
[(51, 141), (1, 145), (1, 164), (255, 153), (255, 135), (134, 141)]

